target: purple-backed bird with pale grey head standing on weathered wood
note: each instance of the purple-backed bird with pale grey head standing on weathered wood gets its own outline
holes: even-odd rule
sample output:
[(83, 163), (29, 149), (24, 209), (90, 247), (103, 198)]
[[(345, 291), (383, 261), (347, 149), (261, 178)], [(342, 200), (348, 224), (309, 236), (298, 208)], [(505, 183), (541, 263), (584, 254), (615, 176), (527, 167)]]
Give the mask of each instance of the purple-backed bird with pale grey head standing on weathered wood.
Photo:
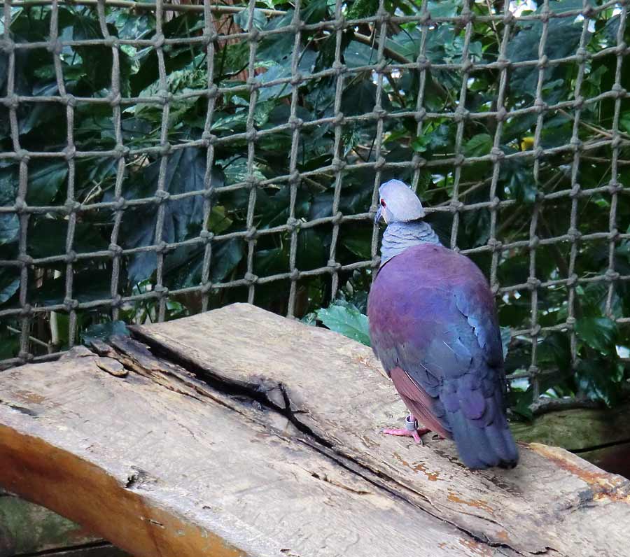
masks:
[[(503, 346), (494, 298), (479, 268), (444, 248), (405, 183), (379, 188), (376, 221), (387, 228), (367, 301), (377, 358), (407, 405), (417, 443), (433, 431), (454, 439), (472, 469), (519, 460), (505, 417)], [(418, 430), (418, 421), (426, 426)]]

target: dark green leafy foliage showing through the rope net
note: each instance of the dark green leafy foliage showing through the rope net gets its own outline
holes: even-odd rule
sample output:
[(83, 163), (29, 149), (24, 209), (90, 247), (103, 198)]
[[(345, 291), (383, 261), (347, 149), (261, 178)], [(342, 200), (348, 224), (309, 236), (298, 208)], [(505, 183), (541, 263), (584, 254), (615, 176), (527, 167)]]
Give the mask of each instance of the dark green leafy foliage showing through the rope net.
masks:
[[(417, 15), (420, 2), (387, 0), (391, 13)], [(594, 2), (595, 4), (595, 2)], [(601, 1), (597, 2), (601, 5)], [(239, 2), (235, 2), (239, 5)], [(498, 6), (499, 3), (496, 3)], [(272, 7), (286, 11), (286, 15), (273, 17), (256, 10), (253, 26), (262, 31), (278, 29), (290, 24), (293, 7), (283, 0), (265, 0), (259, 8)], [(472, 10), (487, 15), (496, 10), (495, 3), (475, 2)], [(376, 13), (378, 2), (372, 0), (346, 0), (342, 10), (346, 20), (371, 17)], [(582, 8), (582, 0), (550, 2), (557, 12)], [(326, 0), (302, 1), (301, 19), (317, 23), (334, 17), (334, 3)], [(428, 3), (435, 17), (451, 17), (461, 14), (461, 2), (450, 0)], [(73, 3), (59, 5), (59, 37), (64, 41), (102, 38), (96, 10)], [(19, 6), (10, 8), (10, 32), (18, 43), (45, 41), (50, 33), (51, 11), (49, 6)], [(525, 10), (524, 15), (527, 15)], [(165, 22), (165, 38), (198, 36), (203, 27), (198, 13), (172, 13)], [(150, 11), (106, 8), (107, 31), (111, 36), (125, 41), (151, 40), (155, 37), (155, 17)], [(4, 22), (6, 24), (6, 22)], [(589, 27), (584, 47), (587, 52), (602, 52), (616, 44), (619, 28), (619, 10), (615, 6), (603, 10)], [(122, 296), (140, 296), (123, 305), (118, 320), (125, 323), (143, 323), (158, 318), (158, 302), (143, 297), (150, 295), (158, 283), (158, 267), (161, 268), (162, 285), (169, 291), (198, 286), (204, 272), (203, 243), (191, 240), (199, 237), (204, 224), (215, 235), (212, 241), (212, 259), (209, 281), (213, 285), (242, 279), (248, 270), (250, 244), (237, 233), (246, 230), (250, 192), (248, 176), (264, 179), (267, 185), (256, 188), (253, 225), (258, 232), (274, 230), (286, 224), (289, 205), (295, 201), (294, 216), (302, 223), (331, 216), (335, 192), (335, 176), (330, 167), (335, 146), (335, 127), (331, 123), (304, 126), (300, 130), (297, 171), (314, 172), (302, 178), (294, 196), (286, 181), (274, 182), (274, 178), (290, 173), (289, 157), (292, 132), (290, 129), (275, 130), (258, 137), (251, 166), (248, 165), (248, 148), (244, 139), (246, 122), (253, 118), (261, 131), (272, 130), (286, 124), (290, 117), (293, 89), (288, 83), (269, 84), (272, 80), (291, 75), (295, 37), (289, 33), (269, 34), (262, 37), (255, 51), (254, 79), (260, 84), (255, 110), (249, 113), (251, 92), (246, 85), (250, 57), (250, 45), (246, 41), (225, 41), (221, 36), (234, 34), (247, 24), (244, 15), (225, 16), (218, 19), (219, 40), (212, 61), (214, 85), (219, 94), (214, 104), (211, 133), (219, 140), (214, 147), (212, 166), (207, 168), (207, 149), (187, 146), (172, 150), (162, 163), (155, 148), (160, 146), (163, 108), (157, 101), (138, 104), (123, 102), (121, 133), (123, 144), (131, 150), (125, 157), (122, 196), (128, 203), (152, 199), (158, 185), (171, 198), (158, 205), (130, 204), (123, 212), (120, 230), (116, 238), (112, 232), (116, 225), (113, 209), (89, 209), (80, 211), (76, 230), (68, 236), (69, 218), (66, 213), (46, 211), (29, 218), (27, 253), (34, 258), (64, 255), (66, 241), (70, 240), (76, 253), (106, 251), (115, 240), (125, 249), (146, 248), (165, 241), (168, 244), (185, 242), (171, 248), (163, 255), (155, 250), (138, 251), (121, 258), (118, 293)], [(240, 27), (238, 27), (240, 26)], [(519, 20), (510, 30), (507, 56), (512, 61), (538, 59), (540, 22)], [(378, 24), (379, 29), (381, 25)], [(625, 43), (630, 43), (630, 26), (626, 25)], [(496, 62), (500, 51), (503, 22), (489, 25), (472, 22), (469, 55), (475, 64)], [(374, 31), (373, 23), (358, 24), (342, 32), (341, 61), (352, 72), (343, 80), (342, 111), (346, 116), (372, 113), (377, 99), (375, 74), (360, 69), (377, 62), (377, 45), (365, 44), (365, 37)], [(420, 54), (422, 27), (414, 22), (387, 25), (384, 55), (388, 62), (399, 63), (402, 59), (413, 62)], [(431, 64), (456, 64), (461, 62), (465, 27), (461, 22), (440, 21), (426, 34), (426, 57)], [(549, 20), (545, 54), (558, 59), (576, 52), (582, 36), (580, 18), (561, 17)], [(363, 38), (362, 38), (363, 37)], [(298, 85), (297, 117), (312, 122), (334, 115), (336, 76), (312, 76), (329, 69), (335, 61), (334, 32), (316, 27), (304, 27), (297, 52), (299, 71), (304, 78)], [(167, 89), (174, 95), (169, 103), (169, 118), (164, 122), (167, 139), (172, 145), (183, 145), (202, 138), (207, 120), (207, 49), (201, 41), (195, 43), (167, 43), (164, 46), (167, 71)], [(120, 59), (120, 94), (129, 97), (151, 97), (161, 93), (158, 75), (158, 55), (153, 48), (137, 47), (124, 43), (118, 51)], [(76, 99), (101, 99), (98, 103), (78, 100), (72, 108), (73, 141), (76, 149), (85, 151), (109, 151), (116, 146), (113, 108), (107, 99), (111, 90), (113, 56), (105, 45), (64, 45), (59, 55), (66, 92)], [(0, 94), (6, 95), (8, 54), (0, 53)], [(627, 61), (625, 65), (627, 65)], [(580, 96), (596, 101), (584, 103), (577, 128), (583, 146), (596, 146), (605, 139), (612, 128), (617, 101), (603, 92), (610, 91), (615, 80), (617, 55), (610, 49), (604, 55), (588, 59), (584, 66)], [(360, 69), (355, 71), (354, 69)], [(505, 108), (520, 111), (533, 106), (538, 85), (539, 71), (536, 66), (510, 69), (505, 90)], [(575, 98), (578, 82), (578, 66), (575, 63), (549, 64), (542, 81), (542, 96), (549, 105)], [(447, 117), (460, 104), (461, 73), (440, 68), (426, 71), (424, 105), (434, 115), (418, 122), (409, 115), (416, 108), (421, 75), (414, 69), (386, 71), (383, 74), (384, 94), (381, 106), (388, 113), (382, 120), (383, 141), (381, 155), (387, 162), (408, 162), (421, 156), (431, 164), (421, 167), (419, 193), (427, 206), (448, 204), (455, 183), (455, 169), (440, 160), (454, 154), (457, 123)], [(51, 50), (31, 48), (15, 51), (15, 93), (22, 96), (54, 97), (59, 94), (55, 64)], [(475, 69), (465, 83), (464, 108), (471, 113), (496, 110), (500, 84), (498, 69)], [(622, 71), (621, 86), (630, 90), (630, 72)], [(630, 134), (630, 99), (619, 100), (619, 127)], [(38, 153), (62, 151), (67, 143), (68, 108), (59, 102), (20, 102), (18, 106), (18, 135), (20, 147)], [(444, 114), (444, 116), (442, 116)], [(398, 115), (398, 116), (397, 116)], [(540, 134), (540, 146), (545, 149), (570, 143), (573, 133), (573, 108), (552, 109), (544, 114)], [(506, 155), (531, 150), (537, 115), (521, 111), (510, 115), (503, 123), (500, 149)], [(608, 132), (607, 132), (608, 130)], [(463, 122), (463, 155), (482, 157), (490, 153), (496, 132), (494, 118), (468, 118)], [(240, 135), (238, 135), (240, 134)], [(235, 136), (232, 139), (230, 136)], [(376, 120), (362, 119), (346, 122), (342, 128), (340, 156), (348, 164), (374, 162), (377, 137)], [(11, 152), (15, 146), (11, 136), (8, 107), (0, 106), (0, 152)], [(629, 149), (622, 145), (620, 157), (629, 158)], [(583, 189), (596, 188), (610, 181), (610, 146), (589, 148), (582, 153), (577, 182)], [(501, 209), (498, 215), (496, 237), (503, 244), (521, 241), (517, 247), (500, 253), (497, 278), (501, 286), (526, 285), (533, 262), (535, 276), (540, 281), (566, 279), (570, 261), (570, 243), (557, 241), (539, 244), (535, 258), (531, 260), (528, 248), (529, 227), (533, 204), (540, 194), (569, 190), (573, 152), (556, 150), (542, 158), (538, 181), (533, 176), (533, 158), (516, 157), (504, 160), (496, 187), (496, 196), (515, 203)], [(165, 179), (160, 183), (160, 166), (165, 164)], [(69, 194), (73, 178), (73, 197), (83, 204), (112, 202), (116, 199), (118, 161), (109, 155), (78, 157), (69, 164), (59, 157), (32, 157), (28, 162), (28, 193), (25, 201), (31, 206), (63, 206)], [(458, 184), (459, 199), (465, 204), (475, 204), (489, 199), (492, 163), (478, 161), (461, 167)], [(0, 205), (10, 206), (18, 192), (19, 162), (11, 158), (0, 159)], [(413, 169), (381, 171), (381, 181), (400, 178), (411, 182)], [(372, 204), (374, 169), (361, 166), (344, 171), (339, 211), (344, 215), (363, 213)], [(617, 181), (630, 186), (630, 166), (619, 167)], [(236, 185), (243, 187), (232, 187)], [(195, 194), (211, 185), (214, 193), (207, 204), (203, 195)], [(577, 232), (608, 232), (611, 196), (608, 192), (580, 197), (577, 204)], [(539, 238), (566, 238), (570, 228), (573, 200), (568, 196), (546, 199), (538, 210)], [(211, 211), (209, 208), (211, 207)], [(630, 201), (620, 195), (616, 204), (617, 225), (624, 224), (626, 232), (630, 222)], [(162, 237), (156, 237), (158, 218), (164, 220)], [(429, 217), (445, 244), (450, 243), (452, 213), (433, 213)], [(491, 215), (488, 209), (474, 209), (460, 214), (457, 244), (460, 248), (483, 246), (490, 237)], [(630, 231), (630, 228), (627, 229)], [(19, 253), (20, 218), (14, 213), (0, 213), (0, 260), (17, 260)], [(186, 241), (189, 241), (186, 243)], [(327, 264), (331, 253), (332, 225), (301, 227), (295, 242), (295, 265), (300, 271), (318, 269)], [(290, 232), (280, 231), (260, 234), (253, 245), (253, 274), (265, 277), (287, 273), (290, 270)], [(372, 223), (369, 220), (343, 223), (339, 227), (339, 239), (335, 246), (335, 260), (342, 265), (358, 260), (372, 259)], [(600, 276), (608, 269), (609, 243), (605, 238), (588, 239), (577, 245), (573, 272), (580, 278)], [(612, 252), (614, 267), (619, 274), (630, 274), (630, 243), (616, 244)], [(472, 255), (477, 264), (487, 271), (491, 264), (489, 253)], [(78, 259), (71, 267), (73, 273), (73, 297), (81, 302), (109, 299), (112, 276), (111, 257)], [(59, 258), (54, 262), (41, 262), (29, 268), (27, 299), (31, 305), (62, 304), (66, 296), (66, 262)], [(351, 305), (339, 305), (330, 299), (330, 274), (303, 276), (297, 283), (295, 313), (297, 316), (318, 318), (324, 324), (344, 328), (365, 341), (365, 296), (369, 289), (370, 271), (353, 271), (340, 274), (344, 284), (342, 293)], [(347, 282), (346, 282), (347, 281)], [(20, 306), (19, 267), (0, 266), (0, 310)], [(284, 313), (290, 282), (288, 279), (262, 283), (255, 286), (255, 303), (272, 311)], [(540, 370), (542, 391), (548, 396), (585, 395), (607, 404), (613, 404), (619, 386), (628, 376), (617, 355), (619, 350), (630, 346), (629, 327), (618, 326), (615, 318), (630, 315), (630, 283), (618, 281), (612, 297), (607, 282), (580, 283), (575, 288), (575, 304), (572, 317), (576, 320), (577, 333), (571, 357), (568, 332), (553, 331), (535, 337), (537, 344), (535, 365)], [(218, 307), (230, 302), (244, 301), (248, 288), (211, 288), (207, 294), (207, 306)], [(542, 327), (564, 323), (569, 316), (566, 285), (549, 285), (538, 289), (538, 313), (536, 320)], [(531, 325), (532, 292), (526, 286), (505, 293), (498, 299), (500, 323), (512, 330), (526, 330)], [(200, 292), (185, 290), (169, 297), (166, 318), (176, 318), (200, 311), (204, 300)], [(608, 306), (610, 311), (608, 311)], [(328, 307), (328, 309), (320, 309)], [(316, 312), (316, 313), (315, 313)], [(50, 342), (51, 324), (57, 325), (55, 348), (69, 343), (69, 318), (64, 311), (38, 313), (31, 327), (31, 334)], [(90, 327), (109, 323), (115, 316), (108, 304), (77, 313), (75, 341), (90, 336)], [(345, 318), (344, 318), (345, 316)], [(345, 320), (344, 320), (345, 319)], [(336, 324), (335, 324), (336, 323)], [(19, 350), (18, 317), (5, 318), (0, 323), (0, 358), (9, 358)], [(504, 339), (507, 341), (507, 337)], [(620, 347), (620, 348), (617, 348)], [(41, 350), (31, 345), (35, 353)], [(506, 368), (508, 372), (526, 372), (531, 365), (531, 337), (518, 334), (510, 340)], [(575, 373), (574, 373), (575, 372)], [(514, 408), (527, 409), (532, 402), (533, 388), (527, 381), (514, 382), (512, 397)], [(526, 414), (526, 410), (523, 411)]]

